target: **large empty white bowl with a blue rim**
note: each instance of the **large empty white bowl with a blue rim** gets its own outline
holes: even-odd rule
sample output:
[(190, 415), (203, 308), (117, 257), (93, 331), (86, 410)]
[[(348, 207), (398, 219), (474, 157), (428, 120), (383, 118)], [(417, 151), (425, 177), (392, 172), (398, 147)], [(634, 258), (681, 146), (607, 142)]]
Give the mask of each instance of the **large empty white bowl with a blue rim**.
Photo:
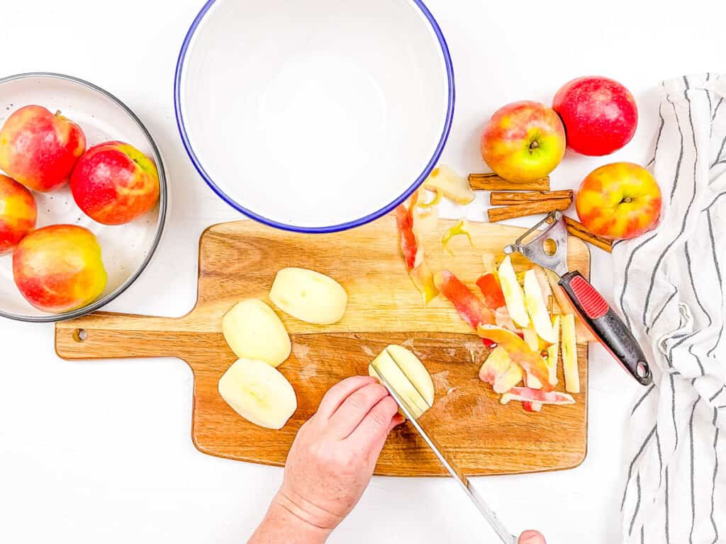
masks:
[(388, 213), (428, 176), (454, 78), (420, 0), (209, 0), (174, 99), (189, 157), (229, 205), (330, 232)]

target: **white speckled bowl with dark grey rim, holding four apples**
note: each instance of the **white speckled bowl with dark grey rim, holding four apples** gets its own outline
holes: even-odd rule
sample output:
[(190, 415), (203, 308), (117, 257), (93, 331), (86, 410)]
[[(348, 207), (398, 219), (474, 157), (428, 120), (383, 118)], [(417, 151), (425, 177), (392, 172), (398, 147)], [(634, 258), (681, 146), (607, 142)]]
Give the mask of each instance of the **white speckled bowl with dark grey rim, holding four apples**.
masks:
[(101, 308), (118, 297), (139, 277), (155, 251), (166, 216), (166, 176), (159, 151), (151, 134), (134, 112), (102, 88), (69, 75), (28, 73), (0, 79), (0, 125), (20, 107), (38, 104), (60, 110), (81, 125), (88, 147), (107, 140), (129, 142), (151, 157), (159, 172), (159, 204), (131, 223), (107, 226), (85, 215), (73, 201), (68, 186), (52, 193), (33, 192), (41, 228), (70, 223), (89, 228), (101, 245), (108, 283), (102, 295), (91, 304), (71, 312), (53, 314), (33, 308), (15, 287), (12, 255), (0, 255), (0, 316), (20, 321), (61, 321)]

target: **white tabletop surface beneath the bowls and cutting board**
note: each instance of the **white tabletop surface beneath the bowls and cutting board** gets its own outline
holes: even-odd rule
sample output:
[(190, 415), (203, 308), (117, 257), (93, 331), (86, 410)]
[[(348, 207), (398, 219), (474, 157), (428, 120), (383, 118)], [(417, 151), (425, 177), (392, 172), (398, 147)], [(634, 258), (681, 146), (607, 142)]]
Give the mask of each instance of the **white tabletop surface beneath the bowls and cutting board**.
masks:
[[(171, 181), (166, 234), (150, 268), (109, 309), (185, 313), (195, 299), (197, 237), (210, 223), (237, 218), (195, 173), (174, 122), (176, 56), (202, 2), (0, 4), (3, 75), (50, 70), (88, 79), (129, 104), (157, 139)], [(478, 132), (497, 107), (515, 99), (549, 102), (561, 83), (590, 73), (619, 79), (634, 92), (640, 127), (613, 158), (647, 162), (658, 81), (723, 70), (723, 2), (669, 8), (632, 0), (531, 6), (430, 0), (428, 6), (449, 42), (457, 78), (444, 162), (462, 173), (483, 169)], [(575, 187), (609, 160), (568, 155), (554, 184)], [(470, 218), (481, 218), (482, 202), (470, 205)], [(593, 279), (609, 295), (608, 257), (593, 255)], [(281, 471), (195, 450), (189, 438), (192, 374), (184, 363), (70, 363), (54, 355), (52, 326), (10, 321), (0, 321), (0, 345), (0, 542), (231, 544), (252, 532)], [(590, 445), (582, 466), (477, 479), (478, 490), (513, 530), (536, 527), (552, 543), (617, 542), (623, 441), (637, 391), (593, 348)], [(494, 537), (449, 479), (375, 478), (330, 541)]]

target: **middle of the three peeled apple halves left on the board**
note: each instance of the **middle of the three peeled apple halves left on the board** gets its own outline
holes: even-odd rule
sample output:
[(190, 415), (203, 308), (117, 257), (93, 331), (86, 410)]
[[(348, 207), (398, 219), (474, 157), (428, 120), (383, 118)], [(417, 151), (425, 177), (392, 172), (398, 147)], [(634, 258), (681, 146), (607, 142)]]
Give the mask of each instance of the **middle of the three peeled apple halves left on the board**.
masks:
[(264, 360), (277, 366), (290, 357), (285, 325), (272, 308), (256, 298), (241, 300), (224, 314), (222, 333), (240, 359)]

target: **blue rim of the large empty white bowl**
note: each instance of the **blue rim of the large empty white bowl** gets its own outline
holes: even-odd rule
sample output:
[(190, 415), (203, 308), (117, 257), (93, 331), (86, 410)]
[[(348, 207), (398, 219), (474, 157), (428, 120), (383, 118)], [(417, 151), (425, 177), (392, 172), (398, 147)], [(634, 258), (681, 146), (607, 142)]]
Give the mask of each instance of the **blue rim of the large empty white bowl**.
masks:
[(348, 230), (348, 228), (355, 228), (364, 225), (365, 223), (370, 223), (370, 221), (374, 221), (375, 219), (378, 219), (381, 216), (393, 211), (396, 206), (401, 204), (401, 202), (404, 202), (405, 199), (407, 199), (416, 189), (418, 189), (418, 187), (423, 184), (423, 181), (425, 181), (428, 174), (431, 173), (431, 170), (433, 170), (433, 168), (436, 166), (436, 162), (439, 161), (439, 157), (441, 157), (441, 152), (444, 151), (444, 147), (446, 146), (446, 140), (449, 139), (449, 132), (451, 131), (452, 120), (454, 118), (454, 102), (456, 98), (456, 93), (454, 91), (454, 67), (452, 65), (452, 57), (449, 53), (449, 46), (446, 44), (446, 38), (444, 38), (444, 33), (441, 32), (441, 28), (439, 27), (439, 23), (436, 22), (436, 19), (433, 17), (433, 15), (431, 15), (431, 12), (428, 10), (428, 7), (425, 6), (423, 1), (409, 1), (415, 4), (415, 6), (420, 9), (424, 17), (428, 20), (431, 28), (433, 29), (433, 32), (436, 34), (436, 38), (438, 38), (439, 40), (439, 46), (441, 46), (441, 53), (444, 55), (444, 65), (446, 65), (446, 79), (449, 83), (449, 96), (448, 104), (446, 106), (446, 120), (444, 121), (444, 130), (441, 132), (439, 144), (436, 145), (436, 149), (433, 152), (431, 160), (428, 161), (428, 164), (423, 169), (423, 172), (420, 173), (420, 175), (416, 178), (416, 181), (414, 181), (414, 183), (409, 186), (409, 188), (406, 189), (403, 194), (399, 195), (399, 197), (396, 197), (396, 199), (394, 199), (391, 204), (388, 204), (373, 213), (364, 215), (362, 218), (354, 219), (353, 221), (346, 221), (345, 223), (338, 223), (337, 225), (333, 226), (302, 227), (289, 225), (287, 223), (280, 223), (280, 221), (274, 221), (272, 219), (259, 215), (258, 213), (254, 213), (252, 210), (248, 210), (244, 206), (235, 202), (234, 199), (229, 197), (224, 191), (219, 188), (219, 186), (214, 183), (214, 181), (212, 181), (211, 176), (209, 176), (209, 174), (204, 169), (202, 163), (195, 154), (194, 149), (192, 149), (192, 144), (189, 142), (187, 128), (184, 125), (184, 117), (183, 115), (181, 115), (181, 72), (184, 68), (184, 59), (187, 56), (187, 49), (189, 49), (189, 44), (192, 41), (192, 37), (194, 36), (197, 27), (200, 25), (200, 22), (202, 22), (206, 13), (216, 2), (216, 0), (207, 0), (206, 4), (204, 4), (202, 9), (200, 9), (200, 12), (197, 14), (197, 17), (195, 17), (195, 19), (192, 21), (192, 25), (189, 27), (187, 35), (184, 36), (184, 42), (181, 44), (181, 51), (179, 51), (179, 58), (176, 60), (176, 70), (174, 73), (174, 113), (176, 115), (176, 126), (179, 128), (179, 135), (181, 136), (181, 141), (184, 144), (184, 149), (187, 150), (187, 155), (189, 155), (189, 159), (192, 161), (192, 164), (197, 169), (199, 175), (202, 176), (206, 184), (212, 189), (212, 191), (214, 191), (218, 197), (224, 200), (224, 202), (227, 202), (227, 204), (233, 207), (235, 210), (266, 226), (281, 228), (285, 231), (301, 232), (306, 234), (324, 234), (330, 232), (345, 231)]

